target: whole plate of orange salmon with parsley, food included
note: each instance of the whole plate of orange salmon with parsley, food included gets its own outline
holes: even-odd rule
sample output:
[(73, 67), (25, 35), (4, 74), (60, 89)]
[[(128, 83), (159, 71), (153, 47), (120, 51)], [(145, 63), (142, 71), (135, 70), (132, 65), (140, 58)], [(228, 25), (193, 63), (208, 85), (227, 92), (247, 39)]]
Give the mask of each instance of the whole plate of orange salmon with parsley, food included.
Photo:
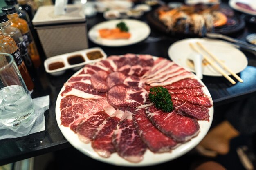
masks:
[(139, 20), (108, 20), (93, 26), (88, 37), (102, 46), (127, 46), (146, 39), (150, 32), (148, 24)]

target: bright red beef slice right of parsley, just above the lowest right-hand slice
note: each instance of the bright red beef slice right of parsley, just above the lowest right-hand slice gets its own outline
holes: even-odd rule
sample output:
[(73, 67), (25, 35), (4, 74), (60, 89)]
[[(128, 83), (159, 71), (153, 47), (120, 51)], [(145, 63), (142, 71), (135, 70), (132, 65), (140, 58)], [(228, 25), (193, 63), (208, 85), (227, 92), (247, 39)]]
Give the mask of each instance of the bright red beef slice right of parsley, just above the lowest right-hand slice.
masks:
[(171, 98), (174, 100), (180, 100), (184, 102), (189, 102), (192, 104), (198, 104), (200, 106), (205, 106), (205, 107), (211, 107), (213, 105), (213, 101), (210, 97), (207, 95), (203, 96), (190, 96), (186, 94), (172, 94)]

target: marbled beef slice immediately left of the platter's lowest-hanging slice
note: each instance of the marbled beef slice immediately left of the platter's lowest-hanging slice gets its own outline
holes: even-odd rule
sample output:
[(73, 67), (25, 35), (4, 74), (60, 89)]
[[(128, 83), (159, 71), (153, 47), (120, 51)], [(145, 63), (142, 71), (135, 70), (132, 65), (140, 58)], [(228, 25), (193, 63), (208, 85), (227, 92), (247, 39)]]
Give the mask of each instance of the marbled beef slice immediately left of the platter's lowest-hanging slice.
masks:
[(101, 157), (110, 157), (111, 153), (116, 151), (112, 144), (112, 135), (121, 117), (124, 115), (125, 109), (126, 108), (117, 109), (115, 113), (103, 121), (96, 129), (92, 138), (92, 148)]

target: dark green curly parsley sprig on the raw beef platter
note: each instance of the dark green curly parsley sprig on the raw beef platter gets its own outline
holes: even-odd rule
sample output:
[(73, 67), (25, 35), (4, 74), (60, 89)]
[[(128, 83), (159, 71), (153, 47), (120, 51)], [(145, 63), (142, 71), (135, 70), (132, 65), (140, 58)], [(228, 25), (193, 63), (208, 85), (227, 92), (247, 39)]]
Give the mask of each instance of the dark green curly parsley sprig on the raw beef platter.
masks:
[(164, 112), (173, 111), (173, 102), (171, 101), (171, 95), (166, 88), (150, 88), (150, 93), (148, 97), (151, 102), (155, 103), (156, 108), (162, 109)]

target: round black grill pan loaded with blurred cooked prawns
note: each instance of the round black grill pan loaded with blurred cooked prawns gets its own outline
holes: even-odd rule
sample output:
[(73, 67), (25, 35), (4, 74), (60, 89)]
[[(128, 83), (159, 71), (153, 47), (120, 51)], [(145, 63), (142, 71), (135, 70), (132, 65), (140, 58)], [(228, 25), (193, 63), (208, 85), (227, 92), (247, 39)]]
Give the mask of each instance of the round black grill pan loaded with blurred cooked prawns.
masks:
[(161, 6), (148, 13), (147, 19), (159, 31), (171, 35), (231, 34), (245, 26), (245, 22), (230, 7), (218, 4), (183, 4), (174, 8)]

